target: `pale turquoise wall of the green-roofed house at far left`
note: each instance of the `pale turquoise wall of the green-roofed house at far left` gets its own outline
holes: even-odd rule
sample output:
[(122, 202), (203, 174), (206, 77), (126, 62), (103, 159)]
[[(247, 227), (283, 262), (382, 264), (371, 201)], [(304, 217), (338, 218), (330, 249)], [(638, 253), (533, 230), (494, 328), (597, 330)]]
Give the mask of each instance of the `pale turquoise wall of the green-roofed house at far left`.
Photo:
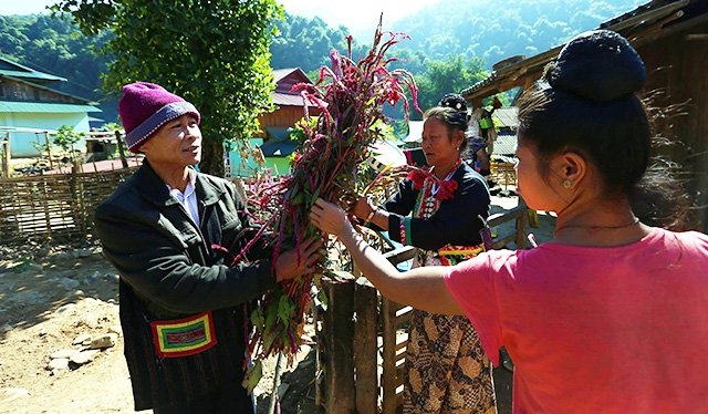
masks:
[[(58, 130), (62, 125), (69, 125), (76, 132), (88, 132), (88, 114), (85, 112), (67, 114), (0, 113), (0, 125), (52, 131)], [(32, 143), (37, 143), (38, 141), (44, 144), (43, 134), (11, 132), (10, 153), (12, 157), (23, 158), (38, 156), (39, 152), (32, 145)], [(80, 141), (74, 145), (74, 148), (84, 153), (86, 151), (86, 143)]]

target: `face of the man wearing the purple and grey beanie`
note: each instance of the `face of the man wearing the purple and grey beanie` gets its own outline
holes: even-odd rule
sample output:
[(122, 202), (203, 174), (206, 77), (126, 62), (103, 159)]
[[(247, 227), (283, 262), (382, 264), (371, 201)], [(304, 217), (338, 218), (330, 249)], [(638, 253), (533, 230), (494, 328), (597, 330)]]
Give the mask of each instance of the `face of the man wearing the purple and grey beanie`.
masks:
[(140, 146), (152, 165), (165, 164), (186, 167), (201, 161), (201, 131), (197, 120), (185, 114), (173, 120)]

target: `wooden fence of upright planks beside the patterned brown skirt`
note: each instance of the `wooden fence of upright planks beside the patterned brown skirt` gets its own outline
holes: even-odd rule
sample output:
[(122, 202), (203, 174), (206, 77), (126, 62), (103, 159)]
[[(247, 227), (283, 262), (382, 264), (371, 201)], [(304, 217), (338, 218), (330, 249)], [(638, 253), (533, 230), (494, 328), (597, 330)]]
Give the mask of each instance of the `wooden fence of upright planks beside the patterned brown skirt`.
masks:
[[(525, 247), (527, 210), (521, 205), (489, 218), (496, 249), (510, 242)], [(513, 230), (503, 231), (502, 225), (512, 220)], [(398, 265), (414, 255), (415, 248), (407, 246), (385, 256)], [(339, 281), (324, 283), (329, 306), (317, 318), (316, 403), (326, 413), (397, 413), (412, 308), (382, 297), (364, 277), (337, 276)]]

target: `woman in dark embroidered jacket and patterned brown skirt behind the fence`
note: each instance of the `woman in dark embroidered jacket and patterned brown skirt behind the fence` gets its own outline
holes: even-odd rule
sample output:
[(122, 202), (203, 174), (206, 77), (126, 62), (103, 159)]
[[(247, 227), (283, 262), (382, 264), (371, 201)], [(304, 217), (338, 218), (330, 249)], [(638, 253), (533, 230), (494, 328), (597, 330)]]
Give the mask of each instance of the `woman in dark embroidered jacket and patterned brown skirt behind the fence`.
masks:
[[(429, 174), (412, 173), (382, 207), (361, 197), (352, 213), (387, 230), (392, 240), (415, 246), (414, 267), (451, 266), (483, 250), (480, 231), (490, 197), (483, 178), (461, 159), (468, 120), (464, 99), (446, 95), (424, 118), (421, 147)], [(494, 410), (491, 364), (469, 321), (414, 309), (404, 413)]]

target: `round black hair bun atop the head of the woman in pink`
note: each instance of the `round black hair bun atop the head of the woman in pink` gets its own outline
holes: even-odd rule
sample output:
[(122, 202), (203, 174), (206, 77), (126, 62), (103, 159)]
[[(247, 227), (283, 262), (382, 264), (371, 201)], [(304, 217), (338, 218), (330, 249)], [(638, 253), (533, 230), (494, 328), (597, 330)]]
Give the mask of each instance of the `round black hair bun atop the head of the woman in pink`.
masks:
[(545, 79), (554, 89), (606, 102), (642, 90), (646, 68), (625, 38), (610, 30), (594, 30), (568, 42)]

